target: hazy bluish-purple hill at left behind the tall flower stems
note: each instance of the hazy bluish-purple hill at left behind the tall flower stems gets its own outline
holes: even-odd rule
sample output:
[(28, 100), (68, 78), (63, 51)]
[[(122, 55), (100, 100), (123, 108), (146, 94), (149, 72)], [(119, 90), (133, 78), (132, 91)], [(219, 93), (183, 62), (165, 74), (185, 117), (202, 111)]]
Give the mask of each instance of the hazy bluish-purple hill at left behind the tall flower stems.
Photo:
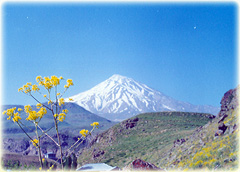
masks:
[[(47, 106), (47, 104), (45, 105)], [(6, 110), (12, 107), (24, 109), (24, 106), (21, 105), (6, 105), (3, 106), (2, 109)], [(32, 107), (33, 109), (36, 109), (36, 106)], [(67, 149), (69, 145), (73, 144), (76, 141), (76, 139), (80, 136), (80, 130), (91, 130), (92, 126), (90, 126), (90, 124), (93, 122), (99, 122), (100, 124), (99, 128), (94, 131), (93, 135), (103, 132), (116, 124), (115, 122), (109, 121), (103, 117), (100, 117), (85, 110), (84, 108), (80, 107), (75, 103), (65, 103), (62, 108), (68, 109), (65, 121), (59, 123), (60, 135), (62, 137), (62, 142), (65, 145), (63, 149)], [(23, 128), (28, 132), (30, 136), (35, 138), (36, 134), (34, 124), (29, 121), (25, 121), (25, 118), (27, 118), (27, 116), (24, 112), (21, 112), (21, 116), (23, 119), (22, 122), (27, 125), (27, 127)], [(19, 126), (16, 125), (16, 123), (14, 123), (13, 121), (9, 121), (6, 118), (6, 115), (2, 115), (4, 151), (23, 153), (26, 155), (36, 154), (37, 152), (34, 149), (34, 146), (31, 144), (30, 139), (24, 134), (24, 132), (19, 128)], [(47, 130), (54, 126), (53, 116), (49, 111), (41, 120), (39, 125), (44, 130)], [(39, 132), (41, 134), (40, 130)], [(48, 134), (53, 136), (54, 139), (56, 139), (56, 131), (54, 130), (54, 128), (50, 130)], [(44, 151), (44, 153), (46, 153), (47, 151), (52, 151), (57, 154), (59, 153), (58, 147), (46, 136), (43, 136), (41, 141), (43, 143), (42, 150)]]

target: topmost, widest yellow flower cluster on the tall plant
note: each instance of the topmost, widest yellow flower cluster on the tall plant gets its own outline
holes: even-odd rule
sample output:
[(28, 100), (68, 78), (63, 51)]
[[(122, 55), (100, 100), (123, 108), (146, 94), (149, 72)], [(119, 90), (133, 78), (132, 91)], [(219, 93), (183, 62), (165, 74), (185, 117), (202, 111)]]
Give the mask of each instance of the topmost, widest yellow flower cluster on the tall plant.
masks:
[(57, 86), (60, 84), (60, 80), (62, 80), (63, 77), (56, 77), (55, 75), (49, 77), (42, 78), (41, 76), (36, 77), (36, 81), (39, 85), (44, 86), (47, 90), (50, 90), (52, 87)]

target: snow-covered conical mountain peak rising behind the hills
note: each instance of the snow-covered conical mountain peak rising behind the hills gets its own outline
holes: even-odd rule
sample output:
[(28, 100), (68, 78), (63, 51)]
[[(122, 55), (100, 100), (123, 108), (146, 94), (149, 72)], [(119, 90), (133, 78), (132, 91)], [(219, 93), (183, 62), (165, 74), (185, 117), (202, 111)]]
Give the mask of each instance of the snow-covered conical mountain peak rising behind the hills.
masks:
[(177, 101), (145, 84), (113, 75), (92, 89), (70, 97), (88, 111), (111, 120), (123, 120), (143, 112), (188, 111), (217, 114), (219, 108)]

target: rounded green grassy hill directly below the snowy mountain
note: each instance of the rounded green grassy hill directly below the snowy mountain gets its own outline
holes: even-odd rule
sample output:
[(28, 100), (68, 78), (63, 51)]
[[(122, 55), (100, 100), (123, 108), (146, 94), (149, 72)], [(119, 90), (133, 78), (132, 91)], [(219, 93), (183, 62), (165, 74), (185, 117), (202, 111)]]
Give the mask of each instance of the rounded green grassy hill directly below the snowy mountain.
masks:
[(123, 168), (140, 158), (159, 165), (175, 140), (186, 137), (214, 117), (188, 112), (137, 115), (96, 136), (80, 154), (78, 163), (103, 162)]

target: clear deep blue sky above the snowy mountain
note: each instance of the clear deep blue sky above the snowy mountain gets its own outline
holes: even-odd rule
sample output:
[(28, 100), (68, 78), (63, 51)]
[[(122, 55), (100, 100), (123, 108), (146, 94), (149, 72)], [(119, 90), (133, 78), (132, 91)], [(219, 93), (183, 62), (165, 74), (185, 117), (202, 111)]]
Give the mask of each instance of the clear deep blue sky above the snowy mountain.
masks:
[(2, 16), (3, 104), (34, 104), (17, 90), (38, 75), (73, 79), (66, 96), (120, 74), (214, 106), (237, 86), (233, 3), (5, 3)]

